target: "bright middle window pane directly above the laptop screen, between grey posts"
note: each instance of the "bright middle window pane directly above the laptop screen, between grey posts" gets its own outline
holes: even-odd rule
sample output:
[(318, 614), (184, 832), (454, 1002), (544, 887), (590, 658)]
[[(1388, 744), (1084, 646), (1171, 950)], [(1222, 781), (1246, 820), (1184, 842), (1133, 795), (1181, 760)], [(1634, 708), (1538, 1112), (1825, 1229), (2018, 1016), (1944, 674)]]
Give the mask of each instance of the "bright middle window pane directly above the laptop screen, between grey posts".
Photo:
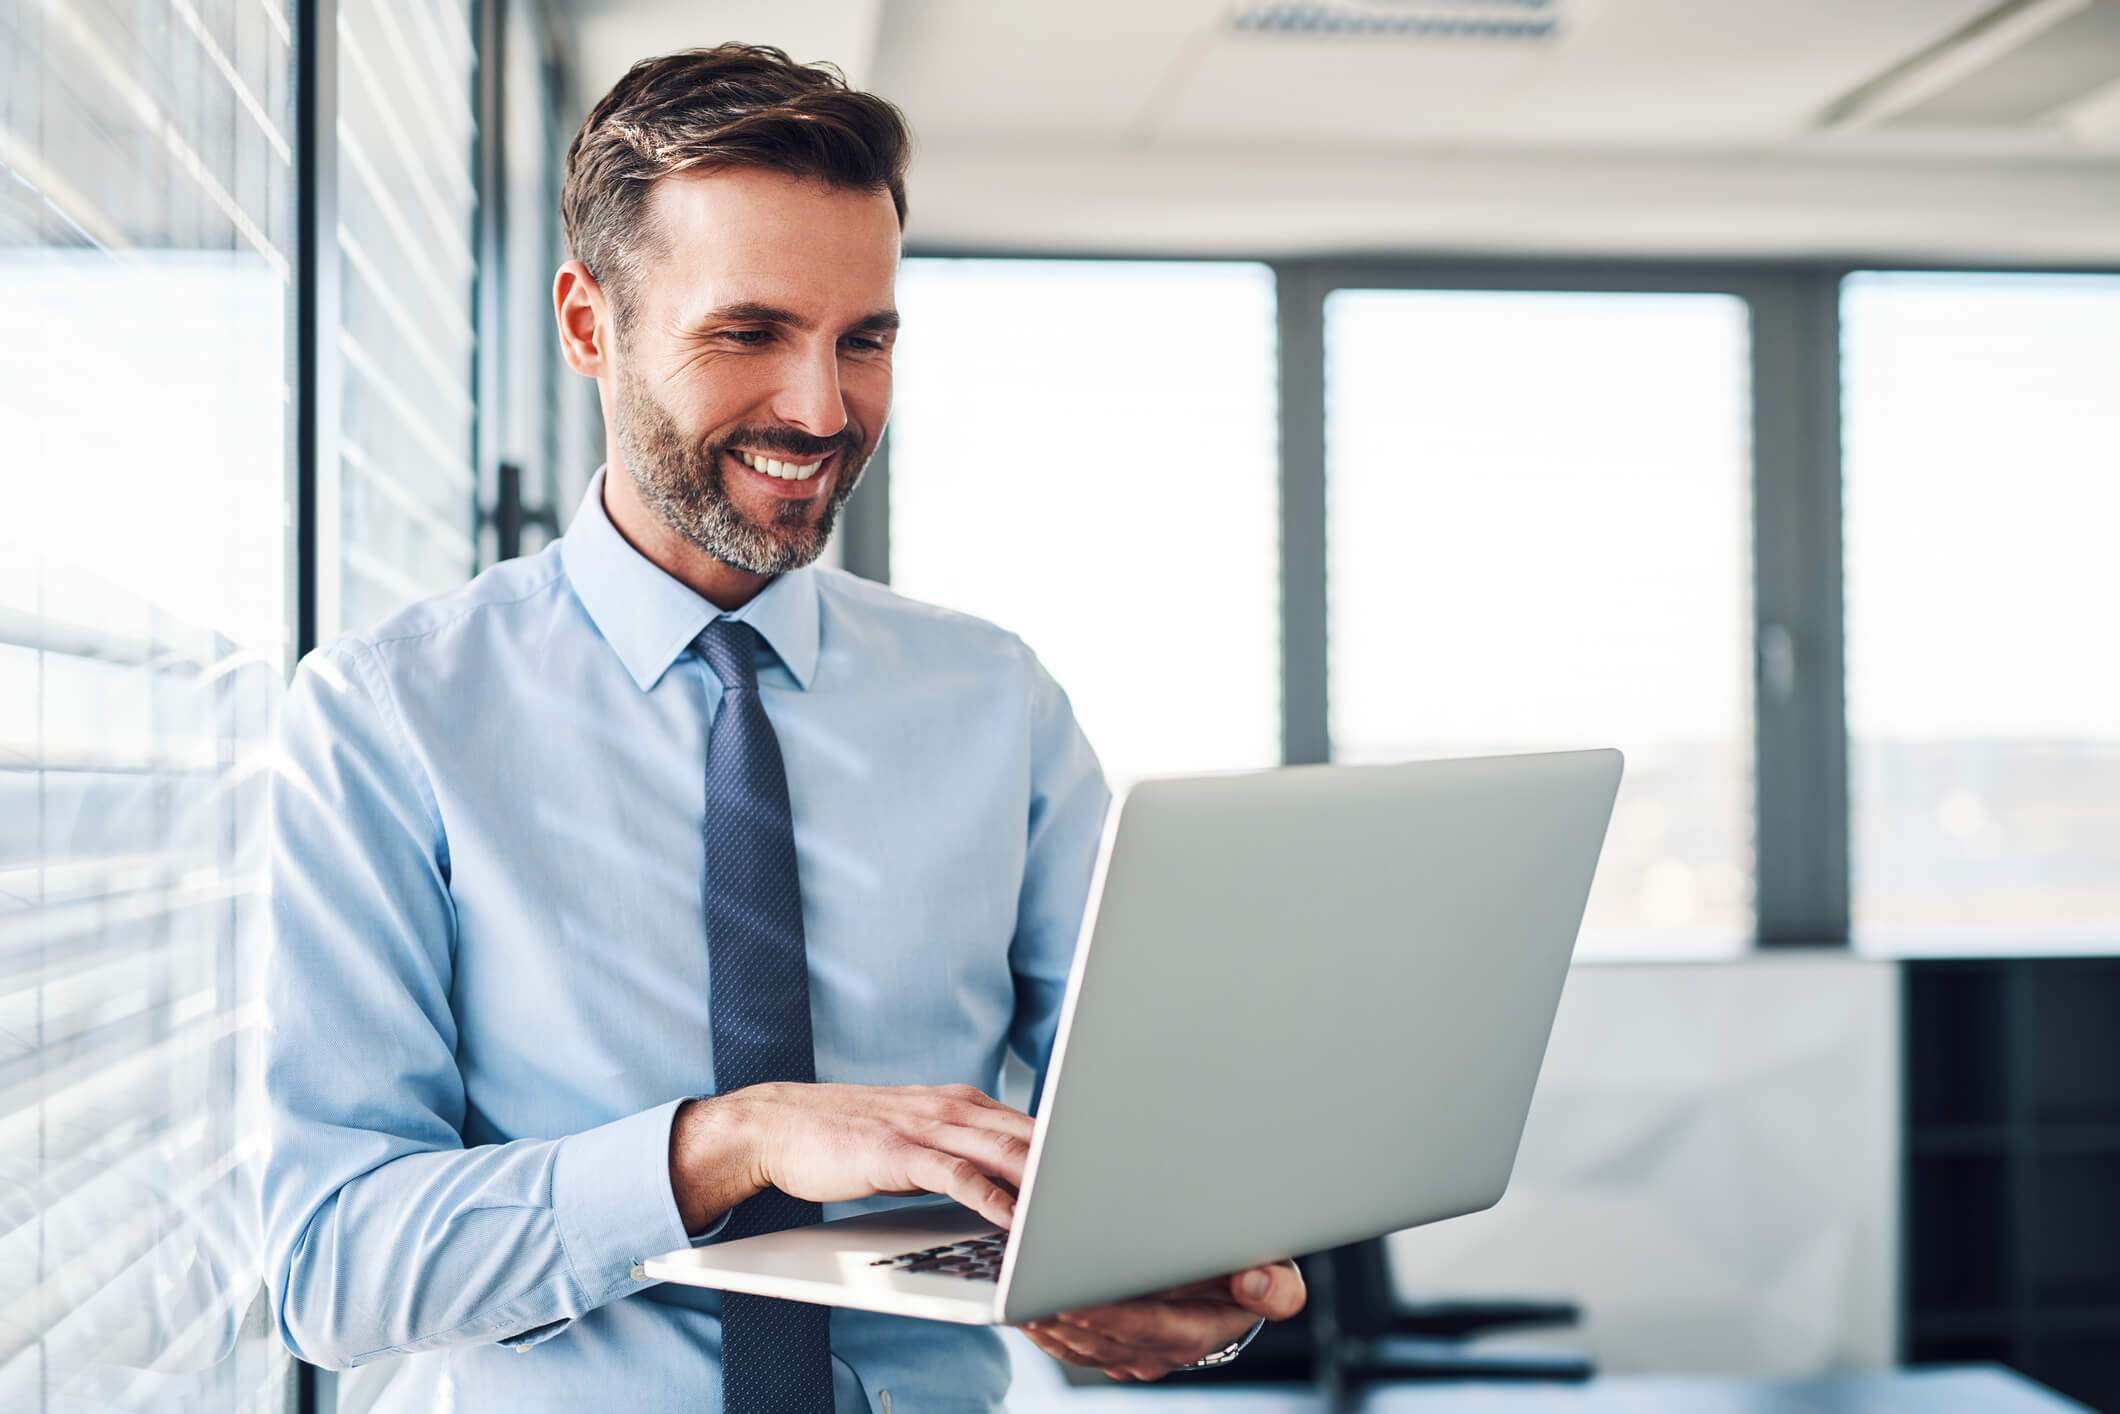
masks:
[(1741, 948), (1745, 303), (1338, 290), (1325, 373), (1333, 757), (1620, 746), (1577, 956)]

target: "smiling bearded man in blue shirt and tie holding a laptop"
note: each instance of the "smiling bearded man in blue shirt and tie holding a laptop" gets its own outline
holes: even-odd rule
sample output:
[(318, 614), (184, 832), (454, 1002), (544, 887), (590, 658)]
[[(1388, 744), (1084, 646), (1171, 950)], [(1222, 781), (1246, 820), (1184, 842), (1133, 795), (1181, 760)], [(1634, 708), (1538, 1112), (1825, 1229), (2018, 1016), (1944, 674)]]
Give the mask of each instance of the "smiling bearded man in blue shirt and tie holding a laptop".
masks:
[[(986, 1329), (630, 1276), (886, 1196), (1007, 1223), (1022, 1181), (1030, 1119), (984, 1092), (1005, 1047), (1045, 1066), (1096, 757), (1011, 634), (810, 568), (890, 409), (905, 153), (772, 49), (634, 66), (568, 153), (553, 284), (608, 466), (560, 545), (290, 689), (267, 1270), (305, 1359), (411, 1357), (377, 1408), (1007, 1389)], [(1030, 1338), (1160, 1378), (1302, 1300), (1278, 1263)]]

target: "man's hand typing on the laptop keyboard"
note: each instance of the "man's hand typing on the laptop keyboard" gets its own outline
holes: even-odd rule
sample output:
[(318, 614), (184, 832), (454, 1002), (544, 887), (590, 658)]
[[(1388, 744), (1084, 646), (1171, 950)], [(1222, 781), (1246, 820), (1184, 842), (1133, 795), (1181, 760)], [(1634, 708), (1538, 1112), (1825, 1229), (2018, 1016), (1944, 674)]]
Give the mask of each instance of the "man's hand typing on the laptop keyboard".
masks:
[(770, 1083), (678, 1107), (670, 1191), (691, 1234), (763, 1187), (810, 1202), (941, 1194), (1007, 1227), (1028, 1157), (1030, 1115), (971, 1085)]

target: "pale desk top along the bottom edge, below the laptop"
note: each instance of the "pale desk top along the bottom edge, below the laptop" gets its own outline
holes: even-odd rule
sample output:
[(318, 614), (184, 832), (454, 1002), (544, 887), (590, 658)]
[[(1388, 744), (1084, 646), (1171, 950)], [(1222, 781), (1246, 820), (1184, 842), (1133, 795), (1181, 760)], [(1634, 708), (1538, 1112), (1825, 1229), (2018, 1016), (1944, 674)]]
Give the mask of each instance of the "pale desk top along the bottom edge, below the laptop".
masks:
[[(1043, 1357), (1039, 1357), (1043, 1359)], [(1018, 1363), (1009, 1414), (1331, 1414), (1308, 1391), (1083, 1386), (1041, 1380)], [(1738, 1376), (1609, 1376), (1588, 1384), (1391, 1384), (1363, 1391), (1350, 1414), (2090, 1414), (1993, 1365), (1757, 1380)]]

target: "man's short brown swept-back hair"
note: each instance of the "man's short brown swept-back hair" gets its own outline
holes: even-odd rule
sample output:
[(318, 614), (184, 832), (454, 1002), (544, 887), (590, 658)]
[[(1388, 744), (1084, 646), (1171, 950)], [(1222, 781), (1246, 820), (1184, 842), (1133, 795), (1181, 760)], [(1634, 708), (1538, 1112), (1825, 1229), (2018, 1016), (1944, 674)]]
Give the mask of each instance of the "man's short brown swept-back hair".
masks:
[(831, 187), (888, 191), (905, 225), (912, 134), (893, 104), (831, 64), (795, 64), (770, 45), (717, 45), (640, 59), (598, 100), (566, 151), (560, 218), (568, 252), (632, 322), (642, 212), (672, 172), (770, 167)]

